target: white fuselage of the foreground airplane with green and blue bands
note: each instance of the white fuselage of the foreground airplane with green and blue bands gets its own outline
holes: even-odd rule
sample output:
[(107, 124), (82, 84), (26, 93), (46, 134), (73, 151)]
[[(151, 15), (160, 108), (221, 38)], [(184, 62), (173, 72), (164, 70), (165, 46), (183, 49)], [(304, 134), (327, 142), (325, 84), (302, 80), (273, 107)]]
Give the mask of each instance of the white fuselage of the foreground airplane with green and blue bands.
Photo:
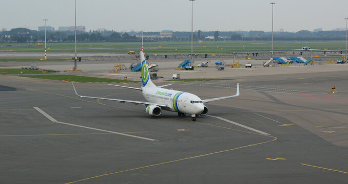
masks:
[(174, 112), (201, 114), (204, 110), (202, 100), (190, 93), (160, 87), (142, 87), (142, 95), (148, 102), (167, 104)]

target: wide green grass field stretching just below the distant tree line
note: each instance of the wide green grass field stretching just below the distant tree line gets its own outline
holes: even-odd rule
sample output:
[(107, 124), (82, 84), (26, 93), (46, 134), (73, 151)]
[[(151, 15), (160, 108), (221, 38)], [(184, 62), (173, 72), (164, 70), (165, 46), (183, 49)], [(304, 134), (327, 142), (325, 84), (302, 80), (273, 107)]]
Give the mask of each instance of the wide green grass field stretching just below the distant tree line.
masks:
[[(244, 48), (243, 45), (244, 43)], [(7, 45), (12, 45), (7, 47)], [(274, 41), (274, 50), (298, 50), (304, 46), (311, 49), (345, 50), (345, 41)], [(43, 46), (35, 43), (0, 43), (0, 52), (37, 52), (44, 56)], [(50, 52), (74, 52), (74, 43), (48, 43), (48, 56)], [(191, 43), (188, 42), (145, 42), (144, 51), (148, 54), (161, 53), (190, 53)], [(78, 53), (119, 53), (126, 54), (128, 50), (139, 52), (141, 42), (79, 42), (77, 44)], [(230, 52), (269, 52), (271, 49), (270, 41), (205, 41), (203, 43), (194, 42), (194, 53), (230, 53)]]

